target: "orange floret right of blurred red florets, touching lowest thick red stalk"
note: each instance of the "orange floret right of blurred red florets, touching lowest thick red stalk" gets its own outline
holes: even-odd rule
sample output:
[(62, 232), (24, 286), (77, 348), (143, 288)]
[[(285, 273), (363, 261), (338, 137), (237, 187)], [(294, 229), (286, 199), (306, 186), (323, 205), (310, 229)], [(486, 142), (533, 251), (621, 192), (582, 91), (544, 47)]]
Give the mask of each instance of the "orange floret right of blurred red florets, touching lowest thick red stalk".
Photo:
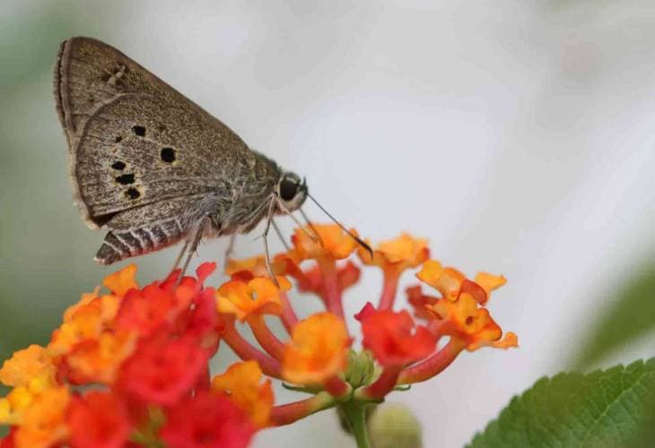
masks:
[(212, 390), (222, 392), (252, 419), (258, 427), (266, 426), (273, 408), (271, 380), (261, 383), (262, 371), (257, 361), (232, 364), (223, 375), (212, 380)]

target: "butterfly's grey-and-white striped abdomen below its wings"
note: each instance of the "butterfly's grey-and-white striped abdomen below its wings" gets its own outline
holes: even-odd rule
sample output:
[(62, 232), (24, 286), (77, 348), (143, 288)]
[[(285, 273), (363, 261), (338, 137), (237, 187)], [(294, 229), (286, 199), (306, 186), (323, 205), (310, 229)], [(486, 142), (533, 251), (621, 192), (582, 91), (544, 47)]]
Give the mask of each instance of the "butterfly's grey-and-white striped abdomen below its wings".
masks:
[(187, 236), (178, 220), (168, 220), (149, 227), (126, 231), (111, 231), (95, 255), (101, 264), (117, 263), (126, 258), (147, 254), (172, 246)]

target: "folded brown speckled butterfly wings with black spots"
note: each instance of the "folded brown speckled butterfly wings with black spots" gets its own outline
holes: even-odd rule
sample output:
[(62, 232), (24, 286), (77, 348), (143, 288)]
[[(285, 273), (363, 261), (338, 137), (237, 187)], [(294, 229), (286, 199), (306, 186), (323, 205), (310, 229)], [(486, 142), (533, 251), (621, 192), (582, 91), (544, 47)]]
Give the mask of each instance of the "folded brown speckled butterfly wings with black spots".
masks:
[(231, 179), (248, 169), (253, 154), (237, 134), (116, 48), (66, 40), (54, 82), (77, 202), (91, 227), (142, 227), (171, 200), (196, 215), (207, 195), (229, 201)]

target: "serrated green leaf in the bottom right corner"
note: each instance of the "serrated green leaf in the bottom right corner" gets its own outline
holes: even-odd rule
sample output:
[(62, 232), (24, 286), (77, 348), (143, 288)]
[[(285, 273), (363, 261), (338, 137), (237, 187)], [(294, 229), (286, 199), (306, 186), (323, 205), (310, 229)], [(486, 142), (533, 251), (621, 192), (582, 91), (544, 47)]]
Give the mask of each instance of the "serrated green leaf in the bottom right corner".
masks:
[[(542, 378), (514, 397), (472, 448), (652, 446), (655, 358), (589, 375)], [(651, 433), (651, 434), (647, 434)]]

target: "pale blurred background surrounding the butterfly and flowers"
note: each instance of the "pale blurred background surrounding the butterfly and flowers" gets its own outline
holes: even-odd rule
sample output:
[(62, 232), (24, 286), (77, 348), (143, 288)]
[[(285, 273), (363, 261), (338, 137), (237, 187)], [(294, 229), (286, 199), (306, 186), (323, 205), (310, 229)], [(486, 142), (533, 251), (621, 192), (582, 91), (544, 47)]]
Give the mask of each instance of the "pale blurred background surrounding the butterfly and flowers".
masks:
[[(4, 0), (4, 357), (47, 340), (65, 306), (114, 270), (92, 264), (102, 235), (72, 205), (51, 96), (57, 46), (74, 35), (118, 47), (305, 175), (363, 236), (408, 230), (443, 263), (509, 279), (490, 308), (520, 349), (465, 353), (389, 398), (415, 409), (427, 447), (467, 443), (513, 394), (567, 368), (616, 288), (653, 253), (649, 1)], [(254, 237), (240, 238), (238, 254), (261, 251)], [(224, 247), (206, 244), (197, 261), (222, 260)], [(161, 277), (175, 254), (138, 260), (140, 279)], [(365, 270), (348, 312), (379, 291), (380, 274)], [(601, 365), (652, 356), (652, 342)], [(324, 412), (263, 432), (256, 445), (348, 444)]]

